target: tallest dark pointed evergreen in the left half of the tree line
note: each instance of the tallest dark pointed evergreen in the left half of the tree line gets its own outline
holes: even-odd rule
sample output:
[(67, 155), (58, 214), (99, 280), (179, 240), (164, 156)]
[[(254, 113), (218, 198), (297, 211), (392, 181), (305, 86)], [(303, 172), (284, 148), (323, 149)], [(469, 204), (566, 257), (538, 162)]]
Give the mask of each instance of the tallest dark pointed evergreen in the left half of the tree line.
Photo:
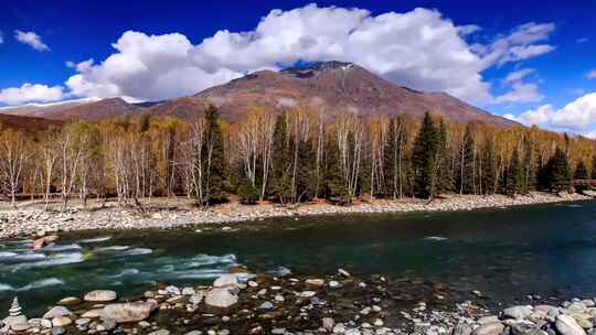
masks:
[(224, 140), (220, 125), (220, 112), (213, 105), (205, 110), (205, 141), (202, 162), (205, 164), (203, 204), (220, 203), (226, 199), (226, 161)]

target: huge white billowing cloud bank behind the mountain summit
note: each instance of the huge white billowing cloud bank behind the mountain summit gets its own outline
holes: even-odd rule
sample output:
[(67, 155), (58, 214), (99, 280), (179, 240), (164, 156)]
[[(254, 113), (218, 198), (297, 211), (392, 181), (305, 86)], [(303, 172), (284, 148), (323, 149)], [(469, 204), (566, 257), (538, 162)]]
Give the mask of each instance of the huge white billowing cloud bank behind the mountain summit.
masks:
[(100, 63), (77, 65), (77, 74), (66, 86), (78, 96), (160, 100), (299, 60), (338, 60), (414, 89), (487, 102), (492, 96), (481, 72), (553, 50), (535, 43), (546, 40), (554, 28), (552, 23), (529, 23), (489, 45), (470, 45), (465, 36), (479, 28), (457, 26), (435, 10), (418, 8), (374, 17), (362, 9), (309, 4), (273, 10), (253, 31), (222, 30), (196, 45), (178, 33), (125, 32), (113, 44), (113, 55)]

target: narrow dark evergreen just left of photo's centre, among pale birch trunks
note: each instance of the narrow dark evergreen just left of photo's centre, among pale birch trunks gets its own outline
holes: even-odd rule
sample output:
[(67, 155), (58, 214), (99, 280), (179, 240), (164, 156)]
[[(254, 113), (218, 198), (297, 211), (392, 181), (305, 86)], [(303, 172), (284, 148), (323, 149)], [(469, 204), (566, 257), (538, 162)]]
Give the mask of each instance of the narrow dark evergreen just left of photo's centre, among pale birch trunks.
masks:
[(278, 116), (274, 130), (274, 148), (269, 195), (285, 204), (291, 198), (291, 149), (289, 147), (287, 115)]

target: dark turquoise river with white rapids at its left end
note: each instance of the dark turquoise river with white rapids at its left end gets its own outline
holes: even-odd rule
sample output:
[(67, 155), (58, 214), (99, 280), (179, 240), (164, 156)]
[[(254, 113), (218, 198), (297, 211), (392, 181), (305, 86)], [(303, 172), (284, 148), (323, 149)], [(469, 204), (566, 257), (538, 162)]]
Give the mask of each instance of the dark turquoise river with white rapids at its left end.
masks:
[[(30, 251), (0, 241), (0, 311), (67, 295), (209, 282), (234, 264), (272, 274), (383, 273), (498, 300), (596, 295), (596, 202), (459, 213), (277, 218), (240, 229), (86, 231)], [(1, 313), (0, 313), (1, 314)]]

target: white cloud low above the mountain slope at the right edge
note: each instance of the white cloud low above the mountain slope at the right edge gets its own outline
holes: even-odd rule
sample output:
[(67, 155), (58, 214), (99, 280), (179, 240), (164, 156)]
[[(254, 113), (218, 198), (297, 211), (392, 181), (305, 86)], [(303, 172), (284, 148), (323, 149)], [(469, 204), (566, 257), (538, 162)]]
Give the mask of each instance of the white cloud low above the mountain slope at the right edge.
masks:
[(557, 110), (552, 105), (544, 105), (518, 117), (513, 115), (505, 117), (528, 126), (536, 125), (555, 130), (594, 134), (596, 131), (596, 93), (586, 94)]

